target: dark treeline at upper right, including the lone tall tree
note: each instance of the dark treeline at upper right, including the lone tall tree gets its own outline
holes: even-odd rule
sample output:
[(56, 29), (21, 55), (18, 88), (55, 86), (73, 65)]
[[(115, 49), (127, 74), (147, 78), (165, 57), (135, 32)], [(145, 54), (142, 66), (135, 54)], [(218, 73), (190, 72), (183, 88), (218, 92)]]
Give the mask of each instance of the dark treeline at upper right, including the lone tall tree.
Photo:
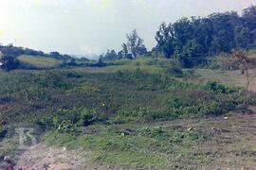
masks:
[(235, 49), (256, 48), (256, 6), (235, 11), (212, 13), (208, 17), (182, 18), (162, 23), (156, 31), (156, 45), (147, 51), (137, 31), (126, 35), (122, 50), (101, 55), (102, 60), (134, 59), (139, 55), (179, 59), (184, 67), (204, 64), (209, 56)]

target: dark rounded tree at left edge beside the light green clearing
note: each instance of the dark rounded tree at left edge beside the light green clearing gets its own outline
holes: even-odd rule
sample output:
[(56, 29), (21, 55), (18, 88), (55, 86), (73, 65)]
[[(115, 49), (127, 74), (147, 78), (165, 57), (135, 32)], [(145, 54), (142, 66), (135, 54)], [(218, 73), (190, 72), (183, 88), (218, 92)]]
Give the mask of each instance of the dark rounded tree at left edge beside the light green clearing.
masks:
[(2, 69), (6, 71), (16, 69), (19, 67), (19, 65), (20, 65), (19, 60), (12, 56), (2, 55), (2, 57), (0, 57), (0, 66)]

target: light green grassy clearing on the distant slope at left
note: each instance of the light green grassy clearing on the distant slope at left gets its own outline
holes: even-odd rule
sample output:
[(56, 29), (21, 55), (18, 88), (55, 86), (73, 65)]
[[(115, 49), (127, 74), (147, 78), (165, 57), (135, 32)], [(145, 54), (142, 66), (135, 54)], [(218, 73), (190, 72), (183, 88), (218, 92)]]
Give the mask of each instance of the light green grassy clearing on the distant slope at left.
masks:
[(41, 56), (19, 56), (18, 59), (25, 64), (36, 68), (53, 68), (59, 66), (62, 62), (58, 59), (46, 58)]

